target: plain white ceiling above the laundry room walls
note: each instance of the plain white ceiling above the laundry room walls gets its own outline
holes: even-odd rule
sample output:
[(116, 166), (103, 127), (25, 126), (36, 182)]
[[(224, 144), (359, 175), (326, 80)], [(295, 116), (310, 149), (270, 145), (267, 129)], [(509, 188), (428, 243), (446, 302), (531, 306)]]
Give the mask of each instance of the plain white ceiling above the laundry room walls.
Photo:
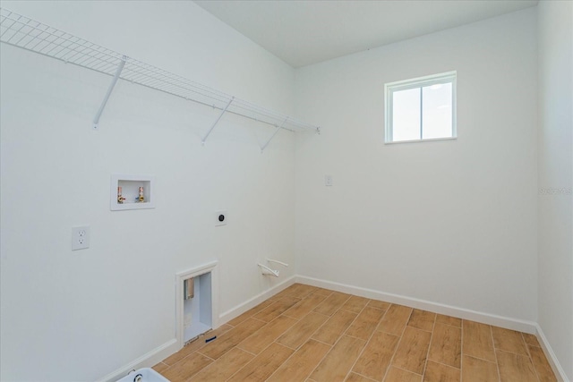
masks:
[(294, 67), (535, 6), (537, 0), (195, 1)]

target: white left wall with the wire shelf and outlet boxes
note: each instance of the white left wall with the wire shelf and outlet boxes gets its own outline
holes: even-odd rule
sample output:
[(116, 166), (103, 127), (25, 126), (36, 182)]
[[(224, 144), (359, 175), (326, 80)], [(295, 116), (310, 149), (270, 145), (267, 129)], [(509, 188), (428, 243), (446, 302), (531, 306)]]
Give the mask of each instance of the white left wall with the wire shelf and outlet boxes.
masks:
[[(294, 70), (192, 2), (3, 7), (289, 113)], [(294, 139), (2, 44), (0, 379), (94, 380), (175, 338), (175, 273), (218, 259), (221, 313), (294, 261)], [(109, 210), (111, 174), (153, 174), (157, 208)], [(229, 224), (214, 226), (227, 208)], [(90, 225), (88, 250), (71, 229)]]

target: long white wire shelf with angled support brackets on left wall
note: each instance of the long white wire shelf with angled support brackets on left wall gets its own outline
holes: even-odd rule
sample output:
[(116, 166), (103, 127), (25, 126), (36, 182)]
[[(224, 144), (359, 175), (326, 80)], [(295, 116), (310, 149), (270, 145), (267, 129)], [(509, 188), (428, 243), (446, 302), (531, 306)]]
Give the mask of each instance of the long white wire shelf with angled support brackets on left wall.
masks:
[[(56, 58), (66, 64), (74, 64), (107, 74), (114, 77), (115, 81), (117, 79), (130, 81), (150, 89), (217, 108), (222, 112), (218, 120), (224, 113), (231, 113), (261, 123), (271, 124), (277, 128), (277, 132), (280, 129), (291, 132), (320, 132), (318, 126), (235, 98), (217, 89), (135, 60), (5, 8), (0, 8), (0, 41), (40, 55)], [(107, 97), (109, 97), (115, 81), (112, 82)], [(104, 99), (101, 109), (105, 106), (106, 101), (107, 98)], [(98, 114), (101, 114), (101, 110)], [(215, 127), (218, 120), (211, 126), (210, 130)]]

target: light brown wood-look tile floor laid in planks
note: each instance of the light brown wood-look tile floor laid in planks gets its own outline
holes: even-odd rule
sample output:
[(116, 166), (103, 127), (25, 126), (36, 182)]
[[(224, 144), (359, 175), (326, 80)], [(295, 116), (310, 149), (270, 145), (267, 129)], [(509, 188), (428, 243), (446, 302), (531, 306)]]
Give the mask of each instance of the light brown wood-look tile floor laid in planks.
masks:
[(535, 335), (304, 284), (154, 369), (172, 382), (557, 380)]

